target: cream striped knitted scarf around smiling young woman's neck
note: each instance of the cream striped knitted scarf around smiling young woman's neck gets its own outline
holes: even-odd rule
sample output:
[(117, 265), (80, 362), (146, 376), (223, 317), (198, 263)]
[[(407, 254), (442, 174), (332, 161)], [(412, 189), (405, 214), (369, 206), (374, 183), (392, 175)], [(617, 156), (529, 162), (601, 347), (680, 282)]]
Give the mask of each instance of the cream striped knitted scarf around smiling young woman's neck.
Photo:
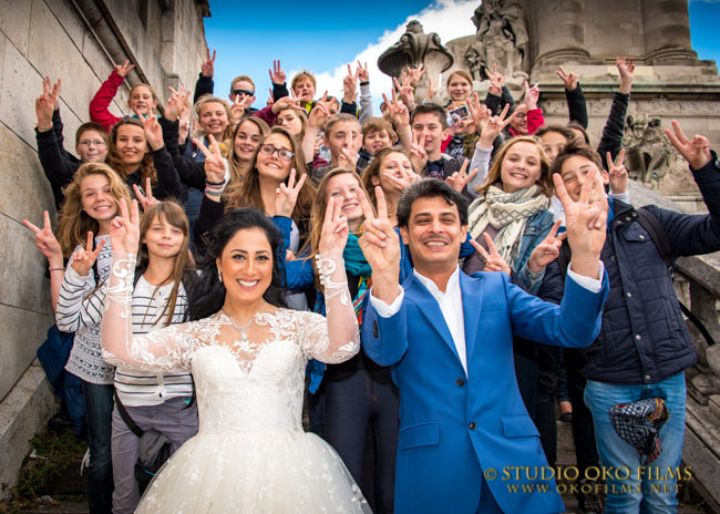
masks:
[(492, 185), (484, 197), (476, 198), (470, 205), (470, 235), (476, 239), (487, 225), (498, 229), (495, 247), (505, 263), (513, 266), (520, 254), (525, 224), (537, 213), (547, 209), (547, 196), (541, 193), (537, 185), (514, 193), (505, 193)]

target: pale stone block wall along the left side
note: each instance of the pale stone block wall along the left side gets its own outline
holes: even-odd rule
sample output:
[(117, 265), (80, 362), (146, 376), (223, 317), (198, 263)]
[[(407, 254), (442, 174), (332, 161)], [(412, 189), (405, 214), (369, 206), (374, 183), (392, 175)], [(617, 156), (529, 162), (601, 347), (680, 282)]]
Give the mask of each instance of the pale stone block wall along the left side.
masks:
[[(60, 112), (65, 148), (74, 152), (76, 127), (89, 121), (88, 105), (115, 63), (136, 69), (111, 111), (126, 114), (127, 82), (148, 82), (162, 100), (167, 86), (194, 86), (206, 42), (207, 0), (0, 0), (0, 483), (12, 483), (28, 440), (52, 415), (45, 409), (24, 430), (13, 429), (17, 391), (43, 388), (23, 383), (35, 350), (53, 322), (47, 261), (35, 249), (23, 218), (38, 224), (53, 215), (50, 185), (35, 151), (34, 100), (42, 78), (62, 79)], [(14, 388), (14, 389), (13, 389)], [(28, 404), (49, 405), (34, 398)], [(27, 420), (27, 418), (25, 418)]]

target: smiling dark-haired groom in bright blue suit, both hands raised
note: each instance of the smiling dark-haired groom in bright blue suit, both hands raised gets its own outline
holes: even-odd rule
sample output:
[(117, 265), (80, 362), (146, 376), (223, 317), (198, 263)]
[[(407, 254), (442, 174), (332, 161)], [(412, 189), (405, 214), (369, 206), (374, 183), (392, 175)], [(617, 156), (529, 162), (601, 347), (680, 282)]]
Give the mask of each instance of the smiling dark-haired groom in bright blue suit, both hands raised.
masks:
[(599, 331), (607, 202), (599, 177), (586, 182), (577, 203), (558, 187), (573, 248), (559, 307), (503, 273), (459, 270), (467, 203), (435, 179), (410, 186), (398, 206), (414, 266), (400, 287), (400, 241), (382, 192), (378, 217), (364, 203), (360, 246), (372, 290), (362, 343), (378, 364), (393, 367), (400, 389), (397, 513), (565, 511), (517, 389), (512, 338), (585, 347)]

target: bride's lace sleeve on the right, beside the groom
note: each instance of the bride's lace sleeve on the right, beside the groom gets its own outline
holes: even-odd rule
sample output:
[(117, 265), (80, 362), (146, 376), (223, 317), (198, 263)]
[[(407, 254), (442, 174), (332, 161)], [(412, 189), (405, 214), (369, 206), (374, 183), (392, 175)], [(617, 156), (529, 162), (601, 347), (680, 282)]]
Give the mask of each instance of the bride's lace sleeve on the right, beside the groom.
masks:
[(339, 251), (316, 257), (320, 284), (325, 288), (327, 320), (307, 312), (298, 327), (300, 346), (308, 357), (335, 364), (360, 350), (360, 335), (348, 291), (344, 261)]

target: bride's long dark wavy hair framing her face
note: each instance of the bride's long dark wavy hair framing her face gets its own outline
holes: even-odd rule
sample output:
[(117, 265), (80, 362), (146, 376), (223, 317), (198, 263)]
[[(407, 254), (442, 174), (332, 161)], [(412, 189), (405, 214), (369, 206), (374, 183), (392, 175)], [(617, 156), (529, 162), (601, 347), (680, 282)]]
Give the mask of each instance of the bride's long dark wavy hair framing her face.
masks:
[(230, 209), (223, 215), (207, 236), (205, 255), (198, 260), (199, 279), (193, 285), (193, 296), (196, 300), (188, 308), (191, 320), (213, 316), (220, 310), (225, 302), (225, 286), (217, 275), (216, 259), (223, 255), (223, 249), (238, 230), (259, 228), (267, 236), (272, 248), (272, 280), (263, 294), (263, 298), (275, 307), (287, 307), (285, 270), (282, 263), (285, 256), (279, 256), (282, 235), (275, 224), (265, 214), (256, 208), (244, 207)]

